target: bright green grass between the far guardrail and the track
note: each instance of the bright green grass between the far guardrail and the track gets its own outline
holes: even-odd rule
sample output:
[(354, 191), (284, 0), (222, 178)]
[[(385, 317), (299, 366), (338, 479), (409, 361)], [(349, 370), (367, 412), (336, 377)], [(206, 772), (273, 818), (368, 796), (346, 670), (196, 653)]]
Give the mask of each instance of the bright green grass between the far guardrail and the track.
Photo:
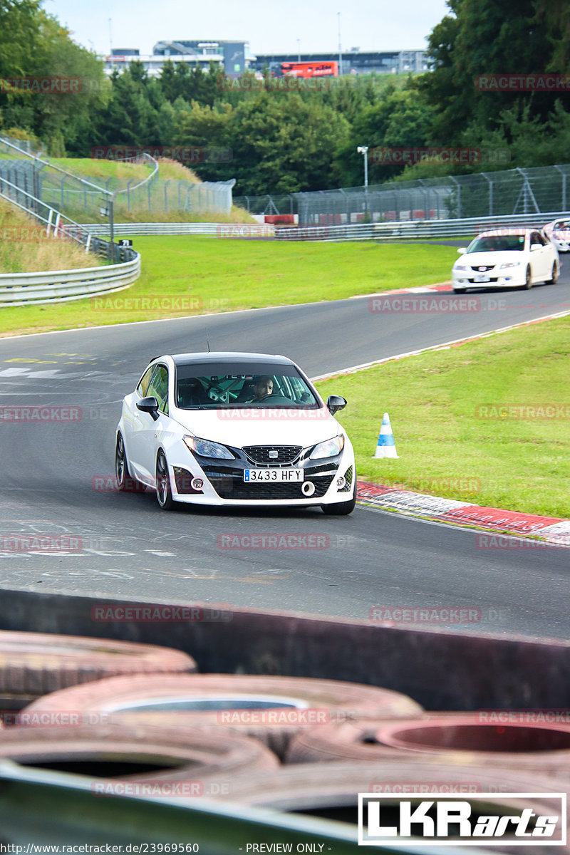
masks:
[[(182, 236), (134, 238), (133, 248), (142, 254), (142, 274), (126, 291), (41, 309), (3, 309), (3, 330), (93, 327), (341, 299), (446, 280), (455, 258), (449, 246)], [(143, 298), (152, 301), (150, 308)]]

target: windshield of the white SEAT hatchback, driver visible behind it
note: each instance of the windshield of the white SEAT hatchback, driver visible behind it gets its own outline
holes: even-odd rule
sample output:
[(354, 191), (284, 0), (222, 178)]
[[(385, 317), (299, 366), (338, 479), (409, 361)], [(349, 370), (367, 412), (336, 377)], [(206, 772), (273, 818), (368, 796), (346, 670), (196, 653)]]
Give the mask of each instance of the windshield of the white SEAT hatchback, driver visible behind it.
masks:
[(175, 384), (176, 405), (181, 410), (320, 407), (294, 365), (250, 362), (182, 364), (176, 367)]

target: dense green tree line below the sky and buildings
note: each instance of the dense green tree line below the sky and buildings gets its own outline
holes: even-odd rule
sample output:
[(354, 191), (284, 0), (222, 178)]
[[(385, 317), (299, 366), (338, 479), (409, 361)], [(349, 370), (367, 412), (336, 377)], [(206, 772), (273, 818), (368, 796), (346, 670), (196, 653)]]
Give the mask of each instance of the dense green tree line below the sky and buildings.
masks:
[[(325, 190), (363, 183), (359, 145), (502, 150), (498, 162), (369, 162), (369, 182), (564, 163), (570, 150), (570, 4), (558, 0), (448, 0), (420, 75), (346, 75), (284, 88), (266, 73), (237, 83), (165, 62), (114, 71), (73, 41), (42, 0), (0, 0), (0, 133), (41, 140), (52, 156), (102, 146), (203, 149), (203, 180), (235, 178), (235, 195)], [(509, 80), (550, 74), (554, 91)], [(73, 79), (79, 91), (34, 91), (22, 80)], [(528, 80), (526, 80), (528, 83)], [(41, 85), (40, 85), (41, 86)], [(222, 152), (221, 156), (219, 155)], [(218, 154), (216, 154), (216, 152)]]

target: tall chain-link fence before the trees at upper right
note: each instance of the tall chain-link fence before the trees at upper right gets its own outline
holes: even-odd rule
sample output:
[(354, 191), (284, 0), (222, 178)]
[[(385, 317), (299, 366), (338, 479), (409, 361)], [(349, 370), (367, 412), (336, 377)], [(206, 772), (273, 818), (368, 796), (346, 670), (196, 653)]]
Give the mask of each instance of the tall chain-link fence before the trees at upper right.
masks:
[(367, 187), (243, 196), (251, 214), (297, 215), (301, 226), (448, 220), (567, 210), (570, 164), (506, 169)]

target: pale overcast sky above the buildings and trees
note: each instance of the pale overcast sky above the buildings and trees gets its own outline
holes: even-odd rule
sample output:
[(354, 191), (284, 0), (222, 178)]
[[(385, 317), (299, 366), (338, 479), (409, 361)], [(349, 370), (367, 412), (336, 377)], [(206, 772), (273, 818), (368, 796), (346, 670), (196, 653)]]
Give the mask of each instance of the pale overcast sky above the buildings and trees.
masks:
[(338, 21), (343, 50), (422, 50), (449, 12), (445, 0), (44, 0), (44, 9), (100, 54), (109, 18), (114, 48), (148, 54), (162, 39), (233, 38), (265, 54), (337, 52)]

